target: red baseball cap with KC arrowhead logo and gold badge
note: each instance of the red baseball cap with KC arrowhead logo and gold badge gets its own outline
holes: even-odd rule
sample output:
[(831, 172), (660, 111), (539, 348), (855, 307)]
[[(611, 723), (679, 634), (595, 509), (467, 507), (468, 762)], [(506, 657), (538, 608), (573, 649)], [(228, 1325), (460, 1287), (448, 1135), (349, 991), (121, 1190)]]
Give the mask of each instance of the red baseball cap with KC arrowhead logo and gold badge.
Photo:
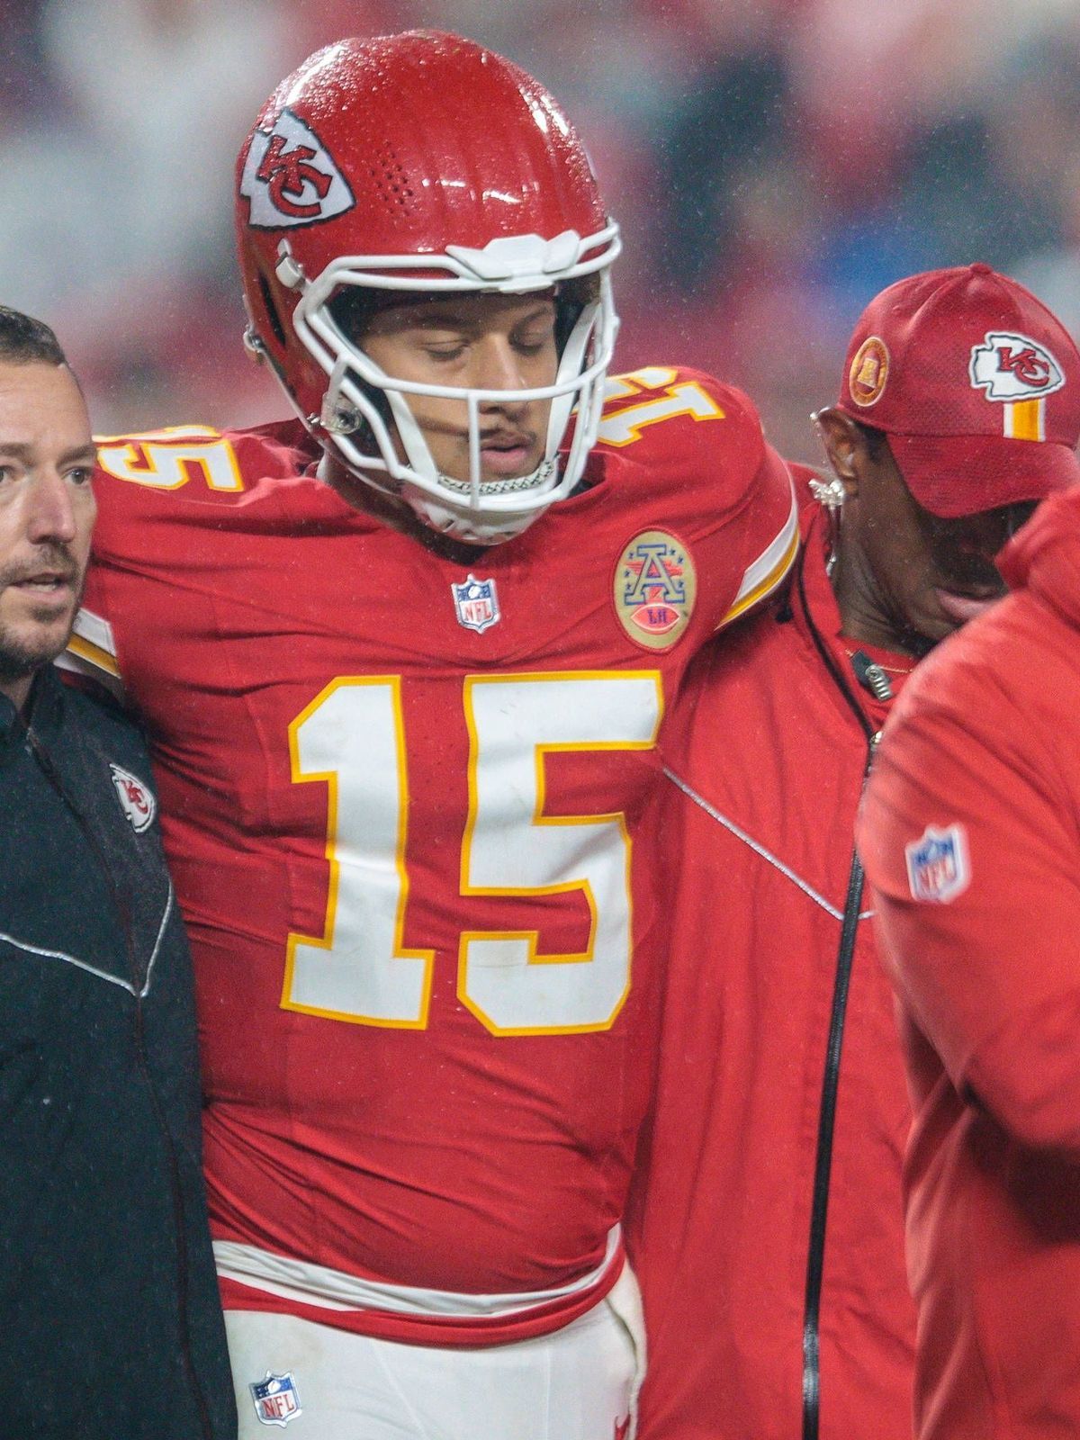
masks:
[(886, 432), (907, 488), (935, 516), (1080, 482), (1080, 351), (1040, 300), (989, 265), (910, 275), (871, 300), (838, 403)]

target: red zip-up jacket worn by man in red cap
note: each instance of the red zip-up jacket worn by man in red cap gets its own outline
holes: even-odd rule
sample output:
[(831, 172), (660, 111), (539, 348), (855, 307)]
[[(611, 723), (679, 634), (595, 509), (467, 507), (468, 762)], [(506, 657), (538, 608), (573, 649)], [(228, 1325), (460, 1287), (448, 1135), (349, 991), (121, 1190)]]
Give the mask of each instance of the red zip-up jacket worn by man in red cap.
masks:
[(628, 1234), (649, 1344), (641, 1440), (799, 1440), (818, 1385), (822, 1440), (910, 1440), (910, 1110), (851, 884), (884, 706), (838, 639), (816, 528), (799, 564), (791, 608), (729, 632), (667, 732), (668, 998)]

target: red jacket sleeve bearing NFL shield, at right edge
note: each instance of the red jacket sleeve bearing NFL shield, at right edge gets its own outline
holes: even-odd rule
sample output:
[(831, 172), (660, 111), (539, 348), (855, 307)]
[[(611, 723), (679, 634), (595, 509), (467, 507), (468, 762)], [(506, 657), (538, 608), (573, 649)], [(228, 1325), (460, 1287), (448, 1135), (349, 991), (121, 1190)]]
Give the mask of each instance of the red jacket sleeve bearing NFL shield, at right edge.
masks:
[[(946, 687), (924, 664), (860, 819), (883, 955), (956, 1090), (1080, 1159), (1080, 837), (1060, 730), (985, 675), (953, 667)], [(926, 703), (935, 681), (948, 703)]]

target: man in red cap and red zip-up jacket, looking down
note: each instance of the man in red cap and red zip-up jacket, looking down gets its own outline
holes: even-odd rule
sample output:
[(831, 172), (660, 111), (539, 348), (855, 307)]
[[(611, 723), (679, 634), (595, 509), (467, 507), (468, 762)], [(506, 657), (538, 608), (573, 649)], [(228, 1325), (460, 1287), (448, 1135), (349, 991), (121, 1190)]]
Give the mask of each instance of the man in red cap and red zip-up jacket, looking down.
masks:
[(832, 478), (786, 603), (701, 658), (665, 732), (644, 1440), (910, 1436), (910, 1107), (854, 818), (907, 674), (1080, 477), (1080, 354), (985, 265), (916, 275), (860, 318), (816, 420)]

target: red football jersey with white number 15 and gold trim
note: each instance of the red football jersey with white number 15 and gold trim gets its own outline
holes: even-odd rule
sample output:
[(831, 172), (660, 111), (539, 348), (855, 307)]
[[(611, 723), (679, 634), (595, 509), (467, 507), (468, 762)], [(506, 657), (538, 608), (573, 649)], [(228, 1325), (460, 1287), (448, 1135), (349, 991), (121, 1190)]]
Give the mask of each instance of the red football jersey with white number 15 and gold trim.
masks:
[(102, 442), (72, 651), (154, 749), (230, 1306), (477, 1344), (615, 1279), (657, 732), (796, 531), (737, 390), (609, 392), (588, 488), (467, 566), (351, 508), (297, 423)]

